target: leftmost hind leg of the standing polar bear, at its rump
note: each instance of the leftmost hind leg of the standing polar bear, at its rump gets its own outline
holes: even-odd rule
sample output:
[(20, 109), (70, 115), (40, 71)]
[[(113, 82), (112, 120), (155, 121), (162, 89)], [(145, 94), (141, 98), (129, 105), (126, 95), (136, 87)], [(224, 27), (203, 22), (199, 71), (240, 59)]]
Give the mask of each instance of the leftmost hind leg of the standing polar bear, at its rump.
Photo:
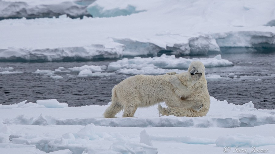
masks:
[(117, 113), (123, 109), (123, 106), (119, 103), (116, 95), (116, 86), (112, 89), (112, 104), (106, 109), (103, 116), (105, 118), (114, 118)]

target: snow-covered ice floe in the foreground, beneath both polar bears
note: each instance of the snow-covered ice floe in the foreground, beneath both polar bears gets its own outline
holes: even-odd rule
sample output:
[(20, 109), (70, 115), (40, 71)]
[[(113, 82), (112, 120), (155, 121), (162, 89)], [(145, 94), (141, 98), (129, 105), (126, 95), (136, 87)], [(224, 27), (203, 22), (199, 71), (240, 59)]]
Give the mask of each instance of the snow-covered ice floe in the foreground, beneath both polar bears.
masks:
[(257, 110), (252, 102), (234, 105), (211, 97), (205, 117), (159, 117), (155, 105), (138, 108), (134, 118), (119, 113), (112, 119), (102, 115), (110, 103), (26, 102), (0, 105), (1, 152), (222, 153), (225, 146), (230, 153), (236, 146), (275, 152), (275, 110)]

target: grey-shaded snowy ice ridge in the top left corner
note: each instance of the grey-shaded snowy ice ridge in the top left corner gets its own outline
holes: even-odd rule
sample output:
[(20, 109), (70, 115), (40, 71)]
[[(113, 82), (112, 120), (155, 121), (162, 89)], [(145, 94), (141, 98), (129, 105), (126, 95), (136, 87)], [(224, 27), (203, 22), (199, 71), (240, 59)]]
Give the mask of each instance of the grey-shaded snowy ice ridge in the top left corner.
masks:
[[(22, 0), (24, 1), (24, 0)], [(49, 2), (38, 2), (38, 4), (27, 2), (7, 2), (0, 1), (0, 20), (15, 19), (15, 18), (51, 18), (60, 15), (67, 15), (70, 18), (83, 18), (83, 16), (91, 17), (87, 12), (86, 7), (78, 5), (72, 1), (58, 1), (56, 4), (45, 4)]]

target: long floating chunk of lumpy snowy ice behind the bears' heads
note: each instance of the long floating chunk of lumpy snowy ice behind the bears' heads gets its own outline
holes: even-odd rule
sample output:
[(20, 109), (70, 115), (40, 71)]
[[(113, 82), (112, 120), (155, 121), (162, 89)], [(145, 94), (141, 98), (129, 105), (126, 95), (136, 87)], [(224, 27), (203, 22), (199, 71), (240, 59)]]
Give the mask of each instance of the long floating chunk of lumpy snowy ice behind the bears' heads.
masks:
[(176, 58), (174, 55), (161, 55), (160, 57), (133, 59), (123, 58), (108, 65), (108, 71), (116, 71), (119, 74), (165, 74), (167, 72), (182, 72), (189, 67), (192, 61), (199, 60), (205, 67), (232, 66), (233, 63), (222, 59), (221, 55), (214, 58)]

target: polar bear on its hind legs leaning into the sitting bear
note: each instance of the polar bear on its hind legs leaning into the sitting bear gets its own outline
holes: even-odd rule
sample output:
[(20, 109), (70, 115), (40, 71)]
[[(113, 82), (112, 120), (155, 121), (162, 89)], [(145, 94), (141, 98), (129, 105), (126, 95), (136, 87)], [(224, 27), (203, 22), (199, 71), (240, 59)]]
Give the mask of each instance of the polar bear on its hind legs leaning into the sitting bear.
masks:
[[(172, 73), (175, 74), (175, 73)], [(105, 118), (114, 118), (124, 109), (123, 117), (133, 117), (138, 107), (149, 107), (157, 103), (165, 102), (169, 107), (180, 107), (199, 111), (203, 103), (182, 100), (180, 96), (189, 97), (189, 88), (201, 77), (201, 74), (191, 75), (189, 72), (176, 75), (135, 75), (127, 78), (112, 89), (112, 104), (103, 114)], [(180, 81), (185, 89), (174, 91), (171, 79)], [(173, 79), (174, 81), (174, 79)], [(185, 91), (182, 94), (182, 91)], [(180, 92), (180, 93), (178, 93)]]

